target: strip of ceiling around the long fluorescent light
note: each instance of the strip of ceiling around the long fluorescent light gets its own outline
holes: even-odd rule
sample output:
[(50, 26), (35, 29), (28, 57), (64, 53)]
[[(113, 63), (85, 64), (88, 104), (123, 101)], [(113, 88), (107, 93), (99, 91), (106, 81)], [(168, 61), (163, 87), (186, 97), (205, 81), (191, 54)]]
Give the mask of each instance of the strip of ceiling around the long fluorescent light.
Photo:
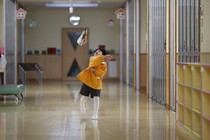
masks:
[[(45, 8), (45, 3), (51, 3), (53, 0), (16, 0), (24, 8)], [(56, 0), (57, 2), (71, 2), (71, 0)], [(120, 8), (126, 0), (72, 0), (75, 2), (99, 3), (98, 8)]]

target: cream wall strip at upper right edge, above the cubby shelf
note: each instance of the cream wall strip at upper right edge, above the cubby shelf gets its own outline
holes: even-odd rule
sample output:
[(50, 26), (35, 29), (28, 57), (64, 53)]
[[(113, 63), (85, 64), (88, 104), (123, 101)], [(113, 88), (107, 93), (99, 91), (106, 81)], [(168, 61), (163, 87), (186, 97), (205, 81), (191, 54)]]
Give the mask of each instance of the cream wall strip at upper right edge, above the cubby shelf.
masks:
[(210, 1), (201, 0), (203, 6), (203, 19), (201, 19), (201, 52), (210, 52)]

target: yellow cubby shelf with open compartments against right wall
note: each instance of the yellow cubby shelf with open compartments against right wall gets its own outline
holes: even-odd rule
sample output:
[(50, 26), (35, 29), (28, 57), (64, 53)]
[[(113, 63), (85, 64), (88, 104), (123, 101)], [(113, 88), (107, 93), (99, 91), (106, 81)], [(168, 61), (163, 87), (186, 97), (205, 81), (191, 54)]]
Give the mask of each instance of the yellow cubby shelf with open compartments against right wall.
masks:
[(210, 65), (178, 63), (177, 123), (198, 138), (210, 138)]

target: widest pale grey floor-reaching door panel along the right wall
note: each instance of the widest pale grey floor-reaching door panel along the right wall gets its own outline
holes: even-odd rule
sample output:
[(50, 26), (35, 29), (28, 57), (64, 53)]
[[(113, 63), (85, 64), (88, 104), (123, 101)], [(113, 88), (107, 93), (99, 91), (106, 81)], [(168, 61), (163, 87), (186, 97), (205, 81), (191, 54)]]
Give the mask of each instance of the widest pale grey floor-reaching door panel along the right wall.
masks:
[(150, 1), (150, 97), (166, 105), (166, 0)]

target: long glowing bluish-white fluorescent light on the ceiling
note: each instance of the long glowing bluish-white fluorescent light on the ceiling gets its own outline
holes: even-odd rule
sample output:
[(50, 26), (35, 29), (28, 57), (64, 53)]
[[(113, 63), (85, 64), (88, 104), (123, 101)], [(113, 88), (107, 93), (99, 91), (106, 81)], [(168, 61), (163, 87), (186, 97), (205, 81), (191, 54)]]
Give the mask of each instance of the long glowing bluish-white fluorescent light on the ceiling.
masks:
[(98, 3), (45, 3), (46, 7), (98, 7)]

